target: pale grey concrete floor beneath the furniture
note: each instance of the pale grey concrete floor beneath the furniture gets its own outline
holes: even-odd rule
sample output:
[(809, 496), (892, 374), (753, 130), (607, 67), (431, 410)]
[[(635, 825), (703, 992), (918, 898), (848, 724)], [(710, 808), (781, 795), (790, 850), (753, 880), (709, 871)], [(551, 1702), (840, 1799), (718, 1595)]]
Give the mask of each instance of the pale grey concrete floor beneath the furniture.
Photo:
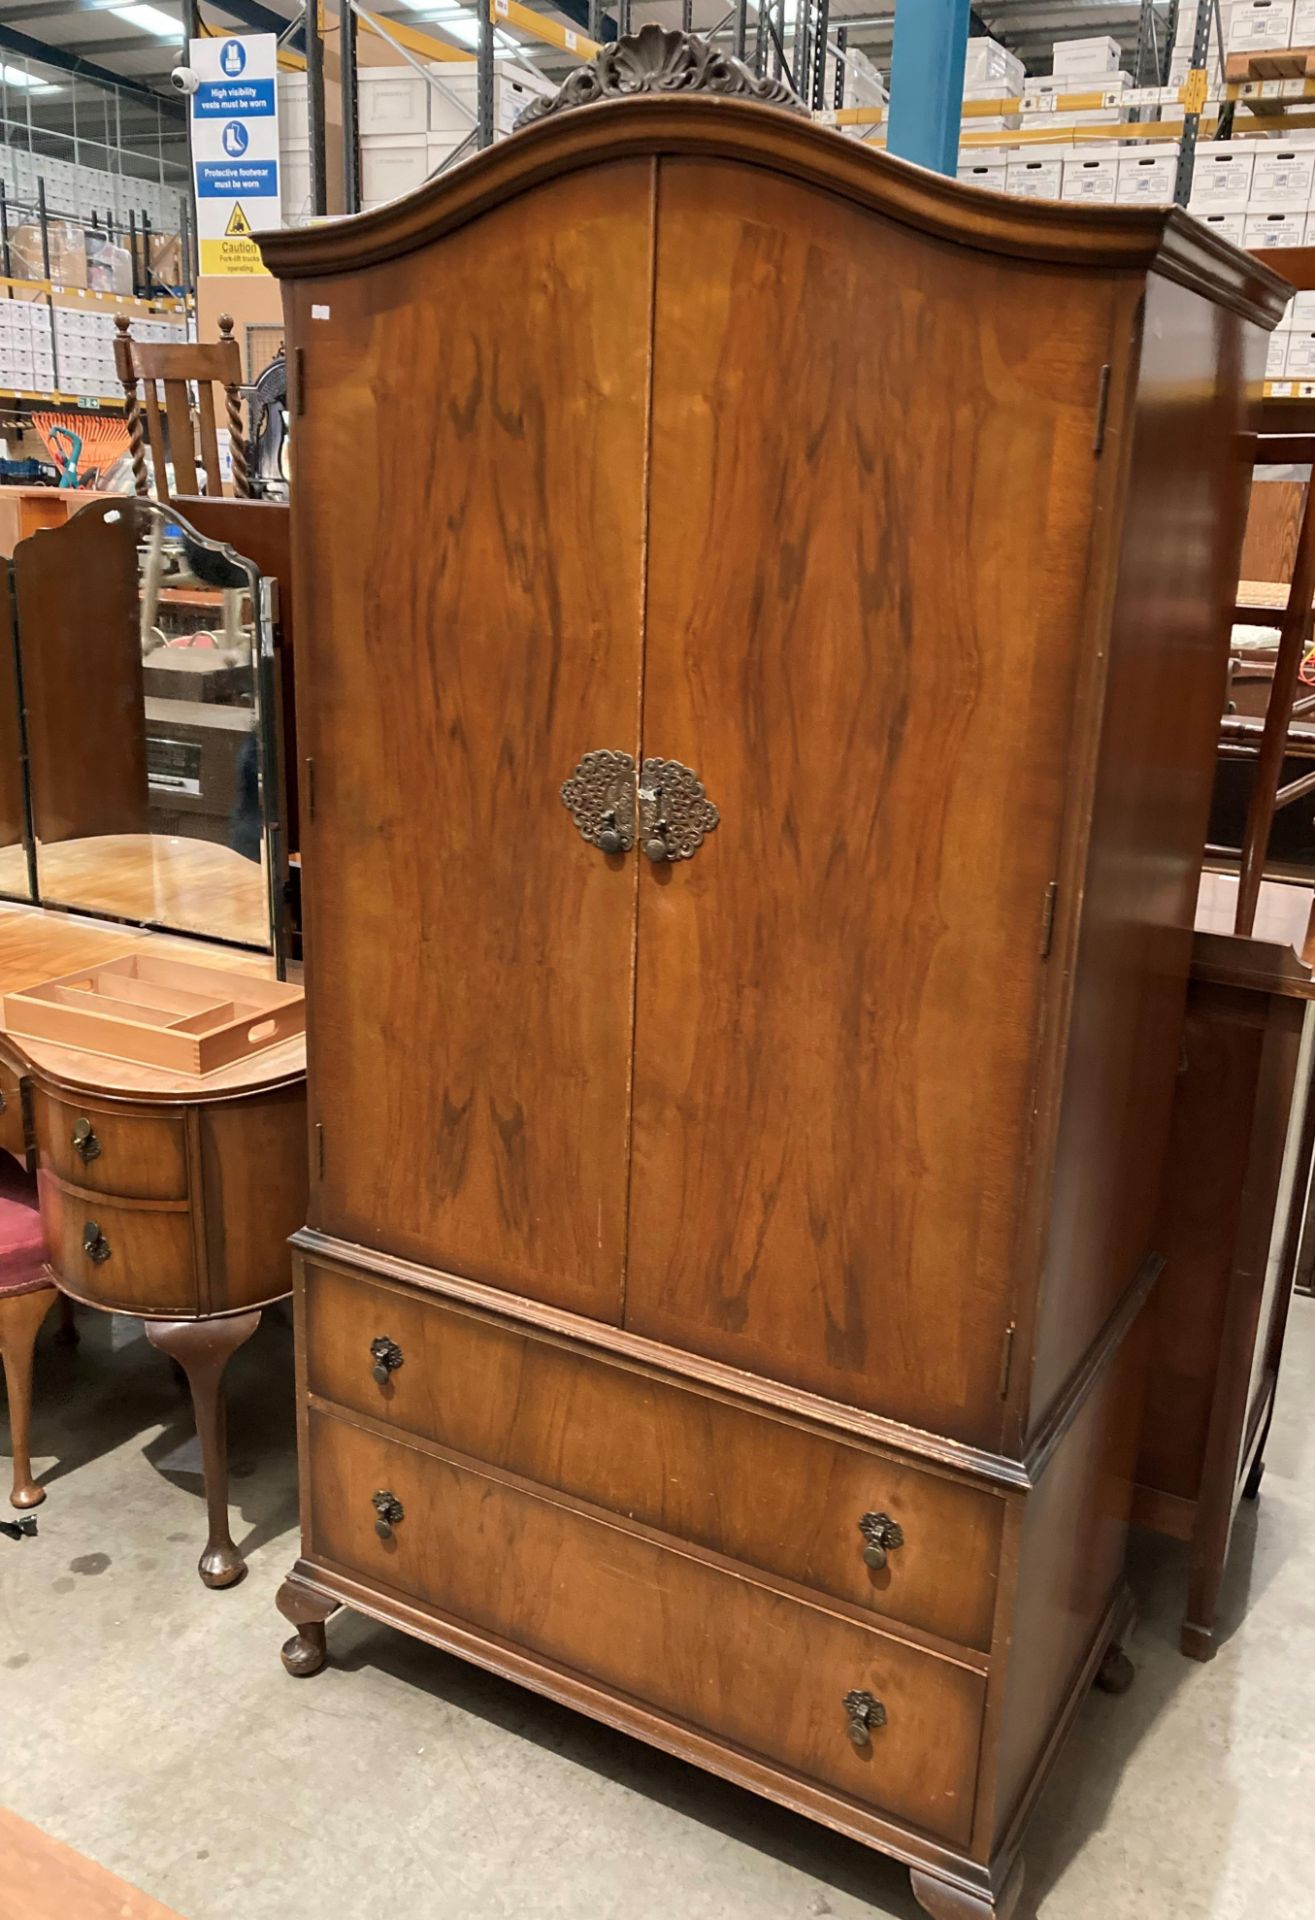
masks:
[[(184, 1920), (914, 1920), (893, 1862), (403, 1634), (338, 1615), (334, 1665), (286, 1678), (286, 1321), (230, 1373), (251, 1572), (228, 1594), (192, 1572), (200, 1461), (169, 1367), (132, 1321), (83, 1315), (77, 1354), (52, 1325), (50, 1498), (36, 1540), (0, 1538), (0, 1803)], [(1181, 1659), (1183, 1551), (1138, 1540), (1138, 1680), (1081, 1713), (1025, 1920), (1315, 1914), (1315, 1302), (1288, 1354), (1231, 1638), (1211, 1667)]]

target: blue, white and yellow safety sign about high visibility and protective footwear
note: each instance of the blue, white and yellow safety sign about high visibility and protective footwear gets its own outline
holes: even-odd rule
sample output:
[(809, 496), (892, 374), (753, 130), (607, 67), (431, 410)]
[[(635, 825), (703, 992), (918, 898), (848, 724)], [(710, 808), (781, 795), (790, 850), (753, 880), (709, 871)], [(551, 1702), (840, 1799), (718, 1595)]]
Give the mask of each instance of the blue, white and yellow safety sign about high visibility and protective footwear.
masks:
[(265, 273), (251, 234), (280, 225), (278, 44), (273, 33), (192, 40), (188, 63), (202, 273)]

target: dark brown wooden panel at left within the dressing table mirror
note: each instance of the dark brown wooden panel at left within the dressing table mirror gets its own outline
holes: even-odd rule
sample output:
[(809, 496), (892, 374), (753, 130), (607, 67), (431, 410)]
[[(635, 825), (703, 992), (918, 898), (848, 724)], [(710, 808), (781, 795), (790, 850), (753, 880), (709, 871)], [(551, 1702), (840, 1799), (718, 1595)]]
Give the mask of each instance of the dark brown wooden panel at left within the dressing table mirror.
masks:
[(33, 831), (146, 831), (136, 520), (113, 501), (13, 549)]

